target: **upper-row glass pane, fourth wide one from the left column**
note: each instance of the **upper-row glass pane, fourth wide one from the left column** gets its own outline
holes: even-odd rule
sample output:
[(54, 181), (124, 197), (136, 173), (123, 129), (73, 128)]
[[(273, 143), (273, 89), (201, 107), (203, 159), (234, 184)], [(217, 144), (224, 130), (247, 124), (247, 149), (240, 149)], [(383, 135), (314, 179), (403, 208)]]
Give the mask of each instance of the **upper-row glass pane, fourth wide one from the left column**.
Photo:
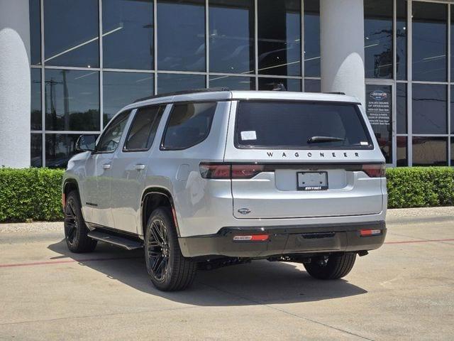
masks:
[(254, 72), (254, 1), (209, 1), (210, 71)]

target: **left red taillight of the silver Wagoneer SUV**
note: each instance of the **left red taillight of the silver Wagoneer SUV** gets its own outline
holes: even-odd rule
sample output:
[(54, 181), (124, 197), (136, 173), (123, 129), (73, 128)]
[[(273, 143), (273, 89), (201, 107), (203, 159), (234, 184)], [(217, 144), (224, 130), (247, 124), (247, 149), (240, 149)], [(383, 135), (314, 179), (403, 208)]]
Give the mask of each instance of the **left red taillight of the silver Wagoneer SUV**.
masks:
[(200, 163), (200, 175), (204, 179), (250, 179), (265, 170), (263, 165), (226, 163)]

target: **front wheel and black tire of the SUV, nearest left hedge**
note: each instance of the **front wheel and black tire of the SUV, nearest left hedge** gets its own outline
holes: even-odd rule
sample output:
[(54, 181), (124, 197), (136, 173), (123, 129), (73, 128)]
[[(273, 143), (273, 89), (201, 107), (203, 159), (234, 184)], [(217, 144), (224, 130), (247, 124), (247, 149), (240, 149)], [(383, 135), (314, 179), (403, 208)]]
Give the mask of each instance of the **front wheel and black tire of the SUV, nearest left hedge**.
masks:
[(79, 195), (72, 190), (66, 197), (65, 206), (65, 240), (68, 249), (75, 253), (92, 252), (96, 240), (88, 237), (88, 228), (82, 217)]

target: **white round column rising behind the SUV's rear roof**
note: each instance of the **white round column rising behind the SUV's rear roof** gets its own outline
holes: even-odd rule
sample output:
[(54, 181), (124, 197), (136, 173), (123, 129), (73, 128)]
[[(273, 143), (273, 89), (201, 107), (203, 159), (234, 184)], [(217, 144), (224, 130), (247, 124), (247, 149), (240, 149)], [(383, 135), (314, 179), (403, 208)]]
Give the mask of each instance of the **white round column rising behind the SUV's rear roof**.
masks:
[(365, 104), (363, 0), (321, 0), (321, 91)]

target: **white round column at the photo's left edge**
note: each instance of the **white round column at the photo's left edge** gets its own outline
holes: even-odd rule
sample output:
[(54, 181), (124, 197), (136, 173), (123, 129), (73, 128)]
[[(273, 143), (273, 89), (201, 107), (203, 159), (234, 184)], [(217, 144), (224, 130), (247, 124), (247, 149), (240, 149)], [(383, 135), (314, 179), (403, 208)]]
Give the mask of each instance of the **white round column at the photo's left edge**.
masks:
[(28, 0), (0, 0), (0, 167), (30, 166)]

